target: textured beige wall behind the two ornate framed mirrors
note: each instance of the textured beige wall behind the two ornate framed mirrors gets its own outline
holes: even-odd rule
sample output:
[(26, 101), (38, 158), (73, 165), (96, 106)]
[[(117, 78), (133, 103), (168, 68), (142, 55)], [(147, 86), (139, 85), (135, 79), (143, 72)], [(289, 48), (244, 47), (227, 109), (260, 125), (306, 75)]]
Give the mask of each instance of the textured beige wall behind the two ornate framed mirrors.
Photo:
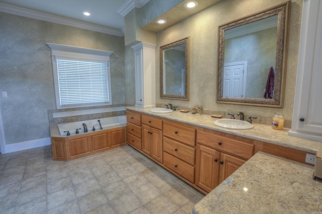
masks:
[(285, 100), (283, 109), (216, 103), (218, 26), (286, 2), (285, 0), (224, 0), (157, 33), (156, 67), (159, 47), (190, 36), (190, 101), (159, 98), (159, 70), (156, 70), (156, 103), (173, 103), (181, 107), (202, 105), (205, 110), (243, 111), (246, 116), (267, 117), (282, 112), (292, 119), (302, 0), (291, 2)]

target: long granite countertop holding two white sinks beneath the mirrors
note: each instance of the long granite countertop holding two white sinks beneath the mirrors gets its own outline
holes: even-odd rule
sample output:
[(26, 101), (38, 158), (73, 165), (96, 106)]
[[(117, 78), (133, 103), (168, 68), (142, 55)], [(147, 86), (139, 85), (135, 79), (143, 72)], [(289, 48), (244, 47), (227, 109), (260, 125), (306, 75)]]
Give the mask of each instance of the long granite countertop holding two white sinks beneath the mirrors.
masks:
[(241, 137), (246, 137), (258, 141), (263, 141), (267, 143), (272, 143), (284, 147), (289, 147), (293, 149), (302, 150), (305, 152), (316, 153), (317, 150), (322, 150), (322, 142), (312, 141), (308, 139), (293, 137), (288, 135), (290, 129), (284, 128), (283, 130), (274, 130), (269, 125), (264, 124), (254, 124), (253, 129), (249, 130), (233, 130), (217, 127), (213, 124), (216, 118), (212, 118), (209, 115), (193, 115), (191, 113), (182, 113), (179, 111), (174, 111), (167, 114), (156, 114), (151, 113), (151, 109), (155, 108), (136, 108), (134, 106), (126, 107), (128, 110), (137, 111), (140, 113), (145, 113), (148, 115), (157, 116), (160, 118), (165, 118), (173, 121), (178, 121), (202, 128), (207, 128), (219, 132), (224, 132), (232, 135), (237, 135)]

